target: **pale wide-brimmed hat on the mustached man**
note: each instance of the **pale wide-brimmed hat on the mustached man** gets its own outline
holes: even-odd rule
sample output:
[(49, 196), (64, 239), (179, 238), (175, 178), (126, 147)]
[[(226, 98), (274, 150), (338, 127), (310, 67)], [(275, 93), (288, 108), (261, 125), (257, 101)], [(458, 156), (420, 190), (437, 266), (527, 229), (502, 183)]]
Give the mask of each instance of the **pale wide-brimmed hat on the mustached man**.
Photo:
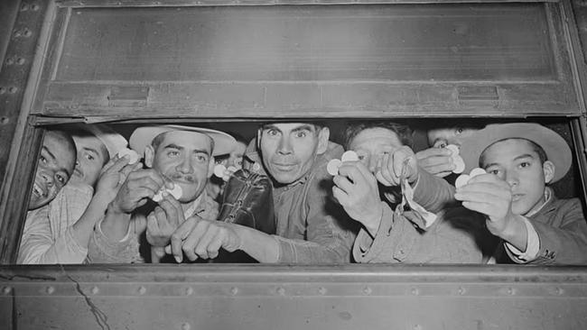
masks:
[(151, 125), (135, 129), (135, 132), (130, 136), (130, 147), (138, 152), (139, 155), (143, 155), (146, 146), (151, 144), (157, 135), (172, 131), (185, 131), (208, 135), (214, 141), (212, 156), (230, 153), (237, 142), (229, 134), (210, 128), (182, 125)]

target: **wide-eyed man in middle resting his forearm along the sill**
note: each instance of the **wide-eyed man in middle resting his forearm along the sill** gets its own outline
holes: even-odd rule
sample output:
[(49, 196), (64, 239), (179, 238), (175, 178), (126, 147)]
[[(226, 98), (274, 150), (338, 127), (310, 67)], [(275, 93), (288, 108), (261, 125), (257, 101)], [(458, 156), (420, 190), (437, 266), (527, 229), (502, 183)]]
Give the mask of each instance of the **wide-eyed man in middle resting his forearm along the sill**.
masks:
[(349, 262), (356, 229), (331, 200), (326, 165), (343, 150), (329, 136), (321, 124), (264, 124), (257, 134), (260, 155), (250, 152), (247, 158), (262, 162), (275, 184), (276, 234), (191, 217), (173, 234), (173, 254), (208, 259), (222, 247), (247, 252), (259, 262)]

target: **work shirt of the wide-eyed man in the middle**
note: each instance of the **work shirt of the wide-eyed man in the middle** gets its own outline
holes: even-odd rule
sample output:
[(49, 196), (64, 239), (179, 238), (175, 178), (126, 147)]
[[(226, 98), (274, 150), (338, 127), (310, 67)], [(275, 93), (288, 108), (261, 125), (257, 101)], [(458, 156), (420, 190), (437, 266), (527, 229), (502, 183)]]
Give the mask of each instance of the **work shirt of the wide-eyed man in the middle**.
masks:
[[(303, 178), (274, 189), (278, 262), (349, 262), (359, 225), (332, 197), (332, 176), (326, 165), (344, 150), (329, 142)], [(258, 161), (256, 154), (247, 157)]]

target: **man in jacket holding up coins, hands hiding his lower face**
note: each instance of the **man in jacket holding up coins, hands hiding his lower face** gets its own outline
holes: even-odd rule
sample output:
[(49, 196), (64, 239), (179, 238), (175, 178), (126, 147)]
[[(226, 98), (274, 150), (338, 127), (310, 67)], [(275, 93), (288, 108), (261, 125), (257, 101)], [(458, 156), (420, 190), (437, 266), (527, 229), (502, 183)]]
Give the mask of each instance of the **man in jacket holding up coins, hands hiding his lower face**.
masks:
[[(473, 213), (449, 208), (453, 188), (443, 179), (418, 167), (411, 130), (402, 124), (351, 124), (347, 148), (359, 161), (345, 161), (334, 177), (333, 195), (363, 228), (354, 243), (359, 262), (480, 263), (483, 260), (483, 223)], [(414, 189), (415, 203), (436, 213), (432, 225), (412, 210), (402, 214), (396, 201), (382, 201), (401, 192), (401, 181)], [(392, 204), (389, 204), (391, 199)], [(394, 212), (392, 207), (396, 207)], [(489, 254), (489, 249), (486, 251)]]

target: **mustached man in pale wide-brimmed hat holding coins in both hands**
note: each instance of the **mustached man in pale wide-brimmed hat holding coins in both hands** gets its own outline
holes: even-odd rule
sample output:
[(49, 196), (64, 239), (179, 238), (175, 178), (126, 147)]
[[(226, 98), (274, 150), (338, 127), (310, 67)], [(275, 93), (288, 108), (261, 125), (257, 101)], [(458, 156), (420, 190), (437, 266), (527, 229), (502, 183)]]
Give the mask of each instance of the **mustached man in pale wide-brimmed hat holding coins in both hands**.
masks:
[[(108, 205), (103, 221), (98, 222), (90, 239), (89, 261), (148, 261), (148, 254), (139, 252), (142, 234), (146, 234), (151, 246), (163, 248), (185, 218), (199, 215), (215, 220), (218, 204), (204, 188), (213, 172), (213, 156), (228, 153), (234, 143), (234, 138), (226, 133), (200, 127), (137, 128), (130, 137), (130, 146), (144, 154), (147, 169), (131, 172)], [(162, 188), (175, 185), (182, 188), (181, 197), (176, 199), (164, 192), (156, 206), (145, 206)], [(152, 261), (161, 256), (154, 253)]]

